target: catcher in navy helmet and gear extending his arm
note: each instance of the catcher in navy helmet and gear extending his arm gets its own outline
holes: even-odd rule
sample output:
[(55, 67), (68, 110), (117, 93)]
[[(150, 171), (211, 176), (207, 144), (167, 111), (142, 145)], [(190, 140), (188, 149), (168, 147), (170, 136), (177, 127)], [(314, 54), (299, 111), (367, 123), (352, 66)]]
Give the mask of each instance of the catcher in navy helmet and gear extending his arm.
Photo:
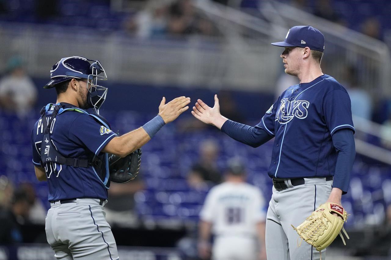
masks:
[[(90, 63), (92, 62), (92, 63)], [(118, 259), (117, 246), (103, 210), (109, 188), (108, 155), (125, 157), (137, 150), (188, 109), (184, 96), (165, 104), (144, 126), (117, 136), (96, 113), (106, 98), (99, 61), (74, 56), (50, 71), (45, 88), (56, 88), (56, 104), (41, 110), (32, 130), (32, 152), (38, 180), (48, 180), (51, 208), (45, 223), (47, 241), (57, 259)], [(63, 163), (45, 163), (47, 160)], [(45, 166), (45, 168), (44, 168)]]

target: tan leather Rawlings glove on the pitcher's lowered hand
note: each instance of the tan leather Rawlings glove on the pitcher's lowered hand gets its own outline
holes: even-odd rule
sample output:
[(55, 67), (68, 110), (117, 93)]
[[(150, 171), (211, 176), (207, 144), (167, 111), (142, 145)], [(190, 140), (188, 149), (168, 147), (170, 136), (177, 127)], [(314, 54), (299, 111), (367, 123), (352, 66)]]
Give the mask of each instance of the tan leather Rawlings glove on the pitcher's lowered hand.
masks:
[[(342, 219), (333, 215), (336, 213)], [(339, 234), (346, 245), (341, 230), (349, 239), (348, 234), (343, 228), (348, 214), (341, 205), (335, 203), (324, 203), (320, 205), (307, 219), (296, 228), (299, 236), (308, 244), (321, 251), (329, 246)]]

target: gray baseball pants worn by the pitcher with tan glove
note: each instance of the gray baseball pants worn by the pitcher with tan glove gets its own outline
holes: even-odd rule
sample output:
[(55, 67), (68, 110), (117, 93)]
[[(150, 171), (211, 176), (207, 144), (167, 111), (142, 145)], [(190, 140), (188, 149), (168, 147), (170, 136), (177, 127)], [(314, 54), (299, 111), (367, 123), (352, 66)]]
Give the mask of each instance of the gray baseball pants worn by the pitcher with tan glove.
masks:
[[(311, 213), (325, 203), (330, 195), (333, 181), (326, 178), (304, 178), (303, 185), (292, 186), (285, 180), (287, 189), (276, 190), (269, 203), (266, 216), (266, 254), (267, 259), (278, 260), (317, 260), (316, 251), (307, 242), (302, 241), (292, 228), (300, 225)], [(326, 249), (322, 252), (326, 259)]]

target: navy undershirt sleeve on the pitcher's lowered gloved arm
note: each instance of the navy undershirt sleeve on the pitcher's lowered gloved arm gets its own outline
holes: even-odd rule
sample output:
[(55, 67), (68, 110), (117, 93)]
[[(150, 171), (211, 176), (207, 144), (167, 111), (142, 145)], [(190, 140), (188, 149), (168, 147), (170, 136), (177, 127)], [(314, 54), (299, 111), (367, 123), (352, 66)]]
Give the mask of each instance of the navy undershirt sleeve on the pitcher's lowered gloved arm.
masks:
[(333, 187), (341, 189), (346, 194), (349, 188), (350, 173), (356, 156), (353, 131), (348, 128), (337, 130), (332, 135), (335, 150), (337, 150), (337, 164), (335, 165)]

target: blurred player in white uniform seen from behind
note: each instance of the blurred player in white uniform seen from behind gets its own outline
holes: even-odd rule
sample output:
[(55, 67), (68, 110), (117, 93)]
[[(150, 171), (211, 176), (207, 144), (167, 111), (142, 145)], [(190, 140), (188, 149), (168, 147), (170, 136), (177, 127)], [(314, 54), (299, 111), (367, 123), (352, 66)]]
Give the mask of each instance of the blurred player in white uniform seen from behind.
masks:
[(206, 196), (199, 223), (202, 259), (210, 256), (212, 230), (214, 260), (266, 259), (264, 198), (245, 179), (244, 166), (231, 160), (226, 181), (213, 187)]

